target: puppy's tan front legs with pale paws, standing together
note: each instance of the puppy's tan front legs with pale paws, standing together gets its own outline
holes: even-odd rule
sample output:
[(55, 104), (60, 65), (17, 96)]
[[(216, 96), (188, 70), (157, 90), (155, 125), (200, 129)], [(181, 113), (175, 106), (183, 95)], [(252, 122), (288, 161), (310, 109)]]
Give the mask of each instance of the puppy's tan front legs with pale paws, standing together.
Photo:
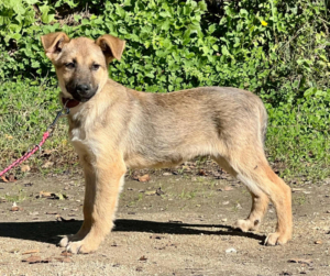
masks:
[(77, 234), (64, 238), (59, 245), (73, 253), (96, 251), (113, 227), (118, 197), (123, 185), (123, 161), (99, 159), (89, 163), (84, 158), (86, 190), (84, 223)]

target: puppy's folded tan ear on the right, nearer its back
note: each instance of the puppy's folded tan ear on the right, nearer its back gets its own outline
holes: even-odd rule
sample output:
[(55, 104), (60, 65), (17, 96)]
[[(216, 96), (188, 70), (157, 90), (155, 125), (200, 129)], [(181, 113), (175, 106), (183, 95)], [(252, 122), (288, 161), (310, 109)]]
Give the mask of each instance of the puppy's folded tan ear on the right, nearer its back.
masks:
[(125, 41), (110, 34), (105, 34), (96, 41), (96, 44), (101, 47), (106, 56), (107, 64), (109, 64), (113, 58), (120, 60), (125, 43)]

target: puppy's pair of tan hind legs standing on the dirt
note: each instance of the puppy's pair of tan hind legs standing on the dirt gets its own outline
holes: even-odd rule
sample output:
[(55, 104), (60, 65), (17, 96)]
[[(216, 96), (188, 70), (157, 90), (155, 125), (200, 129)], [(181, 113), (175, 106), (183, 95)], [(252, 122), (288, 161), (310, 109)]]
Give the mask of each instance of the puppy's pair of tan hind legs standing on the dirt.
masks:
[(238, 148), (231, 148), (227, 158), (216, 158), (218, 164), (241, 180), (252, 195), (251, 213), (248, 219), (239, 220), (237, 227), (242, 231), (256, 229), (267, 210), (270, 198), (276, 209), (277, 227), (276, 232), (268, 235), (266, 244), (284, 244), (292, 239), (290, 188), (272, 170), (262, 146), (245, 147), (242, 152)]

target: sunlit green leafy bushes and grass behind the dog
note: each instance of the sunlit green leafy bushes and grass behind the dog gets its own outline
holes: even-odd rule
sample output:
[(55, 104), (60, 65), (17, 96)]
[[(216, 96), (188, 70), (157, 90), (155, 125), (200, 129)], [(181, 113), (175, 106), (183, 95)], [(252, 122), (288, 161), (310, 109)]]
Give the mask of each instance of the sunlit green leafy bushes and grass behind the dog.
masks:
[[(292, 168), (298, 161), (329, 164), (330, 40), (324, 2), (220, 2), (213, 14), (206, 2), (191, 0), (2, 1), (2, 106), (14, 104), (8, 103), (9, 88), (15, 87), (9, 81), (16, 81), (22, 86), (18, 91), (46, 99), (50, 107), (42, 107), (54, 110), (55, 71), (45, 57), (41, 35), (64, 31), (72, 37), (97, 38), (111, 33), (128, 41), (122, 60), (110, 66), (114, 80), (151, 92), (197, 86), (251, 90), (261, 96), (270, 112), (267, 146), (274, 161)], [(35, 93), (41, 88), (44, 92)], [(32, 111), (33, 100), (34, 96), (26, 98), (26, 107), (29, 101), (33, 107), (29, 112), (36, 112)], [(22, 125), (33, 128), (32, 113), (19, 119), (19, 111), (12, 117), (3, 108), (0, 111), (1, 118), (16, 115), (15, 120), (25, 120)], [(0, 124), (1, 135), (7, 133), (3, 128), (8, 131), (10, 125)], [(11, 133), (18, 135), (19, 128)], [(3, 136), (2, 148), (9, 151), (10, 144), (1, 140)]]

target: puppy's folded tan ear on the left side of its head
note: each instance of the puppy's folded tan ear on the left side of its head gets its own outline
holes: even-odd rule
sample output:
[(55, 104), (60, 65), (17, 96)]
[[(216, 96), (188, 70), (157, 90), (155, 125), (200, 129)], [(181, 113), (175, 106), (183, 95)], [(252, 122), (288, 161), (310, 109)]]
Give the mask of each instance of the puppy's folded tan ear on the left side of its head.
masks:
[(54, 60), (55, 57), (62, 52), (63, 46), (70, 41), (66, 33), (57, 32), (45, 34), (41, 37), (46, 56)]

